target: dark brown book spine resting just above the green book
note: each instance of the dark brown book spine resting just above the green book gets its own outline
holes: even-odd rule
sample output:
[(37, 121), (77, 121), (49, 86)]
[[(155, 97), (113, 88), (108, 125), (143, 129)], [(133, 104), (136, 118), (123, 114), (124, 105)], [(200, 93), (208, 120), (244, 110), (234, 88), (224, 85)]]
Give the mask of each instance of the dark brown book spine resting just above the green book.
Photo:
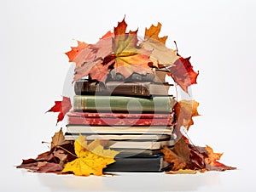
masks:
[(107, 82), (105, 85), (96, 82), (75, 82), (74, 91), (77, 95), (107, 94), (107, 95), (132, 95), (150, 96), (149, 82)]

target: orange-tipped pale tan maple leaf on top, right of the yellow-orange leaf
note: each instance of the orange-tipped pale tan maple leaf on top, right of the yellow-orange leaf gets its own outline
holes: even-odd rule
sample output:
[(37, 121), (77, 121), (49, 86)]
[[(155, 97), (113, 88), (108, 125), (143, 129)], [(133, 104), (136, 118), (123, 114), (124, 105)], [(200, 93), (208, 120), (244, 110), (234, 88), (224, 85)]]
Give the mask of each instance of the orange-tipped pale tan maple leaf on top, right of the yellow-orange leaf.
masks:
[(151, 52), (150, 59), (153, 60), (155, 67), (158, 68), (161, 65), (170, 67), (180, 56), (177, 55), (176, 50), (166, 48), (167, 36), (159, 37), (160, 29), (160, 23), (157, 26), (151, 25), (149, 29), (146, 28), (142, 47)]

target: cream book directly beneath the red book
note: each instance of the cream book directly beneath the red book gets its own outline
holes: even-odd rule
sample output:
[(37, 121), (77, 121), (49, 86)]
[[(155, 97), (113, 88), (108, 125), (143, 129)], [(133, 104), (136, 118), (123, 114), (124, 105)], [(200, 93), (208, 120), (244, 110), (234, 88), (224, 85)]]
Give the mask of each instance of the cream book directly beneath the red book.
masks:
[(127, 126), (87, 126), (67, 124), (67, 133), (123, 133), (123, 134), (169, 134), (172, 135), (173, 127), (127, 127)]

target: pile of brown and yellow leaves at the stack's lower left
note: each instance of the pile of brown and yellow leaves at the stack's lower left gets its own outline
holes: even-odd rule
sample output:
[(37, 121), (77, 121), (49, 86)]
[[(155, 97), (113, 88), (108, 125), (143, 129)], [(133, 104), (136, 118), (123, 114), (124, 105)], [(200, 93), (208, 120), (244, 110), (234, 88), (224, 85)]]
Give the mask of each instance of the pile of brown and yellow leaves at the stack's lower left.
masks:
[(36, 159), (23, 160), (17, 168), (26, 168), (31, 172), (101, 176), (103, 168), (113, 163), (113, 157), (117, 154), (118, 151), (104, 150), (98, 139), (87, 144), (86, 138), (79, 135), (74, 143), (67, 141), (60, 130), (52, 137), (49, 151), (38, 155)]

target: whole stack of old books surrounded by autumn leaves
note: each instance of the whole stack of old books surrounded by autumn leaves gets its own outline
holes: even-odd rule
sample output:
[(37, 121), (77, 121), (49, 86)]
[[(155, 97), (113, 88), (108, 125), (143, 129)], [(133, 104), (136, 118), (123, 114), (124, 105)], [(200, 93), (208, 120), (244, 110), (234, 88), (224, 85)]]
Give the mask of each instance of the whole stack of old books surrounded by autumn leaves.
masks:
[(168, 94), (172, 84), (132, 81), (75, 82), (65, 138), (74, 140), (83, 134), (88, 141), (98, 138), (106, 148), (118, 150), (116, 162), (105, 171), (160, 172), (168, 167), (160, 150), (174, 144), (176, 101)]

